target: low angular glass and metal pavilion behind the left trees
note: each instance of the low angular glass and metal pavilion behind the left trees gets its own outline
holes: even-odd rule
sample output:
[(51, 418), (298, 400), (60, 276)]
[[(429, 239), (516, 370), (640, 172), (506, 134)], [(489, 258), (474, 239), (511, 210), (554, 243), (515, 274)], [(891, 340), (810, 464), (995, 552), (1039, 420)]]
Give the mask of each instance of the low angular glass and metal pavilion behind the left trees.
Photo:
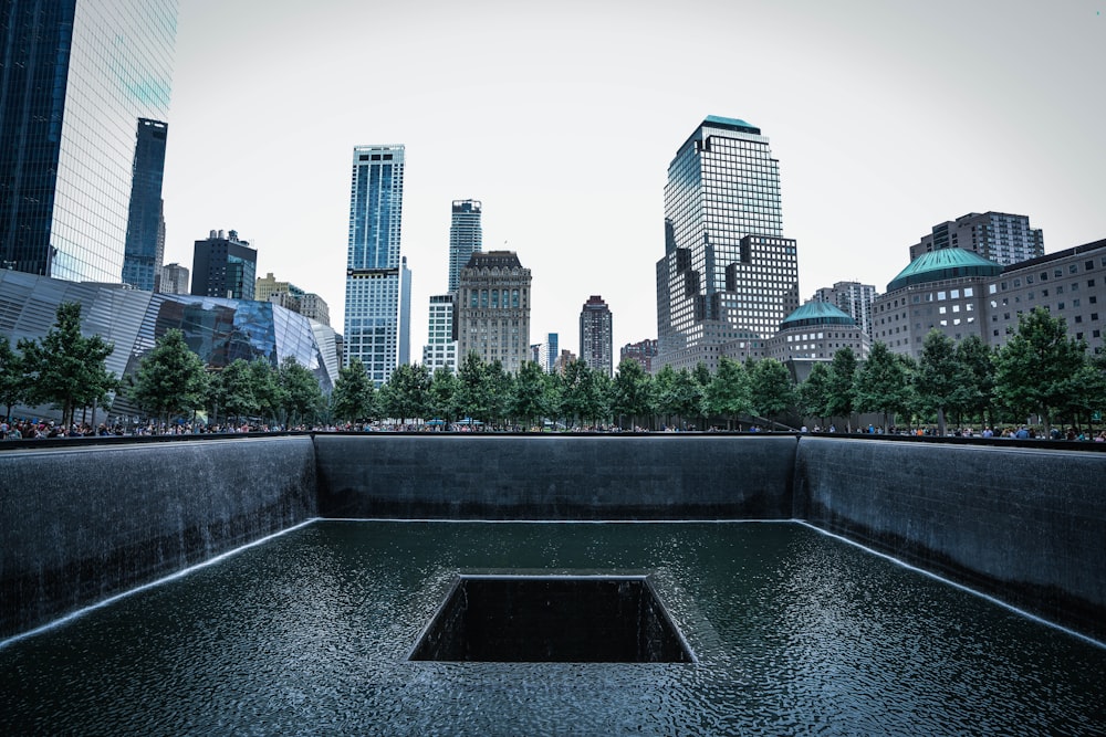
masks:
[[(81, 305), (83, 334), (114, 344), (106, 366), (118, 377), (137, 370), (155, 341), (178, 328), (188, 347), (215, 369), (238, 358), (263, 359), (274, 367), (294, 358), (315, 375), (324, 392), (337, 379), (334, 330), (269, 302), (157, 294), (0, 270), (0, 336), (12, 345), (41, 338), (63, 302)], [(112, 412), (137, 414), (122, 396)]]

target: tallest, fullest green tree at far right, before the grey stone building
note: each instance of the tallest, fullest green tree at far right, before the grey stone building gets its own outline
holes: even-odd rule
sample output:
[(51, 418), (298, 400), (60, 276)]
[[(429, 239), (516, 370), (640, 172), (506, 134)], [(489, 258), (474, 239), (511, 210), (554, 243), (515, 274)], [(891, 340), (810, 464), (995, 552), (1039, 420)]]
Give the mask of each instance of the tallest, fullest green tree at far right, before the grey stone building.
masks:
[(995, 391), (1011, 409), (1040, 413), (1047, 434), (1053, 410), (1072, 402), (1085, 360), (1086, 344), (1067, 337), (1064, 318), (1034, 307), (995, 356)]

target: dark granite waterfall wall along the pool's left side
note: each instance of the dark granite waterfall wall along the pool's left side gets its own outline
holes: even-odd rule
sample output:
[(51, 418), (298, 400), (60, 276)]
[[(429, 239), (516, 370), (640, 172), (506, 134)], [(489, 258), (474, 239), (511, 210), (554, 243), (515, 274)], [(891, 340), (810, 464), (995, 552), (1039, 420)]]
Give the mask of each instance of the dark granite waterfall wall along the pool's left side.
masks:
[(310, 436), (0, 454), (0, 639), (316, 516)]

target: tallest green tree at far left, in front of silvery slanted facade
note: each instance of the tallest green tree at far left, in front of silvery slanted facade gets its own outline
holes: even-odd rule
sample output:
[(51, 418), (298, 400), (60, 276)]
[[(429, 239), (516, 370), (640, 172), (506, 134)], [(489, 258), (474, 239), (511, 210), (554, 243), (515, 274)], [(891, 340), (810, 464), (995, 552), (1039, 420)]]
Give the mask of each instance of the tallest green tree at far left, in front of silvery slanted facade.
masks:
[(56, 322), (41, 340), (21, 339), (23, 368), (30, 378), (28, 400), (50, 403), (62, 410), (62, 424), (73, 423), (77, 409), (107, 399), (118, 387), (105, 361), (115, 349), (98, 335), (81, 334), (81, 305), (58, 305)]

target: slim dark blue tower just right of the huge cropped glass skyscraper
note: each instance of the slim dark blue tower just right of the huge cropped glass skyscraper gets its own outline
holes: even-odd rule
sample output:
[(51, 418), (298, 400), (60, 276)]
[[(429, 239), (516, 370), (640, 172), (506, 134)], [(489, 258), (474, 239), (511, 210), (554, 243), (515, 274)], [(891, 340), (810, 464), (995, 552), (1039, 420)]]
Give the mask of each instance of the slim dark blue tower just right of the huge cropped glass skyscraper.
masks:
[(165, 259), (165, 218), (161, 214), (161, 178), (169, 126), (138, 118), (131, 177), (127, 240), (123, 254), (123, 283), (153, 292)]

